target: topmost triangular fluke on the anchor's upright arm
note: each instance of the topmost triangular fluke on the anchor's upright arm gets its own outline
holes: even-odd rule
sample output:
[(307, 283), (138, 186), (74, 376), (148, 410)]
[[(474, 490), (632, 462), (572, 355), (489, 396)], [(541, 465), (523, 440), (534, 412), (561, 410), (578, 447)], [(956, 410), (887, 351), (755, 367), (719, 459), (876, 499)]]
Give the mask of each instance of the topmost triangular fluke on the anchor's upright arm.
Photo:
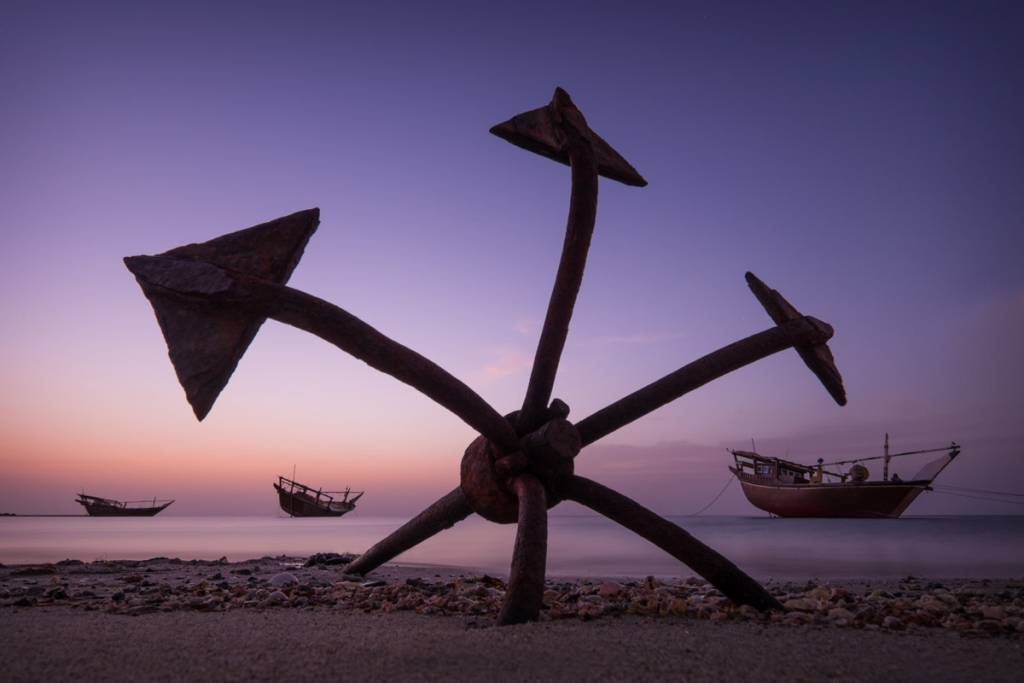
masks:
[[(550, 104), (514, 116), (505, 123), (494, 126), (490, 132), (516, 146), (568, 166), (568, 152), (561, 143), (552, 114), (555, 100), (561, 100), (563, 105), (567, 102), (569, 106), (574, 109), (568, 94), (561, 88), (557, 88), (555, 97)], [(598, 175), (634, 187), (644, 187), (647, 184), (643, 176), (600, 135), (593, 130), (590, 131), (590, 135), (594, 144), (594, 154), (597, 155)]]

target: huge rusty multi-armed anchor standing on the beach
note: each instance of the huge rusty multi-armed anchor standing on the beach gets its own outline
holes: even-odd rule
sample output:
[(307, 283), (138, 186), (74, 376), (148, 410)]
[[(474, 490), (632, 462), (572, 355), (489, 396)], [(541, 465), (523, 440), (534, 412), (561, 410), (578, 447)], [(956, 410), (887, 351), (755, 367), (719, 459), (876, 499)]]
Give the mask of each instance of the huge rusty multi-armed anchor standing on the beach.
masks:
[(635, 501), (574, 474), (582, 449), (743, 366), (795, 348), (833, 398), (846, 403), (826, 342), (827, 324), (803, 315), (753, 273), (746, 282), (775, 327), (694, 360), (572, 424), (551, 399), (555, 374), (583, 281), (597, 213), (598, 176), (634, 186), (646, 181), (593, 132), (568, 94), (495, 126), (490, 132), (571, 169), (561, 261), (519, 411), (502, 416), (454, 376), (322, 299), (286, 287), (319, 224), (310, 209), (158, 256), (131, 256), (135, 275), (167, 341), (196, 417), (209, 413), (266, 318), (310, 332), (449, 409), (479, 436), (462, 460), (457, 488), (392, 532), (348, 568), (366, 574), (472, 513), (518, 524), (499, 625), (536, 621), (543, 602), (548, 510), (575, 501), (653, 543), (739, 604), (782, 609), (764, 587), (680, 526)]

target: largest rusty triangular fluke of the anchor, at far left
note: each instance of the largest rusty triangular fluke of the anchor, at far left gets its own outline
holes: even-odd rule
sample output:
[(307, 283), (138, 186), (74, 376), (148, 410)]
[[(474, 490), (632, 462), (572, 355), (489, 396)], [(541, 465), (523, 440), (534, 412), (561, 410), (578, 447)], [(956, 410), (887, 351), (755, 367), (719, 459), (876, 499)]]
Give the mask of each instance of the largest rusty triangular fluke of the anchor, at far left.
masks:
[[(319, 209), (308, 209), (158, 256), (125, 258), (125, 265), (153, 304), (174, 372), (199, 420), (213, 408), (266, 319), (208, 306), (197, 299), (195, 295), (210, 290), (209, 282), (199, 279), (213, 270), (203, 268), (202, 264), (284, 285), (302, 258), (306, 243), (317, 225)], [(175, 264), (183, 267), (175, 267)], [(175, 271), (178, 278), (162, 276), (170, 271)], [(180, 280), (182, 272), (187, 274), (189, 271), (195, 273), (194, 286), (182, 288), (170, 284), (172, 280)], [(222, 278), (223, 273), (220, 275)]]

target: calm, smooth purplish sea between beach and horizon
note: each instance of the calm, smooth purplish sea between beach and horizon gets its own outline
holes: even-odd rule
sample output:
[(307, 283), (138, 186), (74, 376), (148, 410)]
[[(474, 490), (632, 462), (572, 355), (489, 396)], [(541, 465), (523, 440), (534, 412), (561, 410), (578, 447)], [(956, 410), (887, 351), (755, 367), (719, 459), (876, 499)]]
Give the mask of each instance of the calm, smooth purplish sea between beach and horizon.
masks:
[[(759, 580), (1016, 579), (1024, 574), (1024, 516), (900, 519), (672, 517)], [(0, 516), (0, 563), (178, 557), (242, 561), (317, 552), (361, 553), (406, 518)], [(507, 573), (514, 525), (471, 517), (396, 558)], [(551, 517), (549, 577), (692, 575), (603, 517)]]

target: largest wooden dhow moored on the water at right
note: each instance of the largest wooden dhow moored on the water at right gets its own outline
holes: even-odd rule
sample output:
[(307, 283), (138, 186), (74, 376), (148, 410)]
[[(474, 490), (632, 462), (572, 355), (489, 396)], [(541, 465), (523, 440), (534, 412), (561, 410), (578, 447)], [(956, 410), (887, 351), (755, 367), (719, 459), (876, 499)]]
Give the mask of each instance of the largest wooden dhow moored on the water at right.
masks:
[[(909, 479), (889, 476), (893, 458), (925, 453), (946, 452), (922, 467)], [(752, 451), (732, 451), (735, 466), (729, 470), (739, 479), (743, 494), (755, 507), (777, 517), (899, 517), (922, 492), (932, 490), (931, 483), (953, 458), (959, 446), (889, 453), (886, 434), (885, 454), (816, 466), (801, 465), (778, 458), (766, 458)], [(885, 460), (882, 479), (870, 480), (868, 460)], [(850, 465), (847, 472), (829, 472), (825, 467)], [(827, 480), (827, 478), (838, 479)]]

